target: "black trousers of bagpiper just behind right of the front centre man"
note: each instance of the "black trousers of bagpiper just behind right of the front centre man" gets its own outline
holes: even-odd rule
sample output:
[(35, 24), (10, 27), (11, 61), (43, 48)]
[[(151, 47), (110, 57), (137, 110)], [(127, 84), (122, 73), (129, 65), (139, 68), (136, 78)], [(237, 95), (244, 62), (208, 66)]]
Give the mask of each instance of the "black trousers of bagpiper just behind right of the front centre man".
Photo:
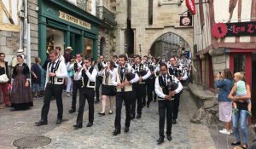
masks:
[(136, 92), (136, 98), (132, 98), (131, 102), (131, 114), (135, 115), (136, 100), (137, 100), (137, 114), (142, 114), (143, 111), (143, 95), (146, 95), (146, 84), (135, 83), (134, 89)]

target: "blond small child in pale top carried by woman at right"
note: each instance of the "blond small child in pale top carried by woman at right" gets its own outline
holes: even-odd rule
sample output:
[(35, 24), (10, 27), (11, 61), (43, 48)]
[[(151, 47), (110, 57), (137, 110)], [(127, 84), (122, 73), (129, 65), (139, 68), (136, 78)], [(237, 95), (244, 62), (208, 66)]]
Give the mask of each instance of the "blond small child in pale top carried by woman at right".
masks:
[[(237, 96), (244, 96), (244, 95), (247, 95), (247, 88), (246, 88), (246, 83), (245, 81), (242, 81), (242, 80), (245, 80), (244, 79), (244, 76), (241, 74), (241, 72), (236, 72), (235, 75), (234, 75), (234, 79), (235, 79), (235, 88), (236, 88), (236, 95)], [(244, 102), (243, 100), (238, 100), (238, 102)], [(246, 100), (246, 102), (248, 103), (248, 106), (247, 106), (247, 113), (252, 117), (252, 102), (251, 100)], [(236, 115), (237, 112), (239, 112), (239, 110), (237, 109), (237, 105), (236, 105), (236, 102), (233, 102), (233, 106), (235, 108), (234, 110), (234, 114)]]

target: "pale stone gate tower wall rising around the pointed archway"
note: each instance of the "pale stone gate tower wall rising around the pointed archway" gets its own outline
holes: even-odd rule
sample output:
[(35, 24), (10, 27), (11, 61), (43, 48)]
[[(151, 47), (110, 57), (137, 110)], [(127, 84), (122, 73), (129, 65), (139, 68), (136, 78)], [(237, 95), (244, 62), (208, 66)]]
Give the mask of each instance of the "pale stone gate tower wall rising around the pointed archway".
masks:
[[(148, 49), (154, 41), (167, 32), (176, 33), (189, 43), (193, 51), (193, 27), (180, 27), (179, 15), (186, 11), (185, 3), (178, 6), (162, 5), (153, 1), (153, 25), (148, 25), (148, 0), (131, 0), (131, 28), (134, 32), (134, 51), (139, 54), (139, 44), (142, 45), (142, 54), (148, 54)], [(118, 22), (115, 32), (117, 39), (117, 50), (115, 54), (125, 53), (125, 28), (127, 19), (126, 1), (116, 1), (116, 20)]]

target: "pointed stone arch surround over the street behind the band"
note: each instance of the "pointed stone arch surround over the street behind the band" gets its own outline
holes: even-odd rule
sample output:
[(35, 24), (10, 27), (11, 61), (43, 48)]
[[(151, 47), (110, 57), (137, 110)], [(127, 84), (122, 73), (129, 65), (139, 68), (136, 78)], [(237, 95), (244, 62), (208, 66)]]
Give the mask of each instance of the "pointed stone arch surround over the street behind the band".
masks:
[[(148, 30), (150, 32), (150, 30)], [(177, 34), (177, 36), (182, 37), (184, 41), (189, 44), (191, 54), (193, 55), (194, 47), (193, 47), (193, 28), (174, 28), (174, 27), (166, 27), (164, 29), (160, 29), (159, 31), (154, 31), (154, 33), (148, 35), (148, 40), (146, 39), (145, 49), (151, 49), (154, 41), (156, 41), (162, 35), (172, 32)], [(190, 34), (190, 36), (189, 36)]]

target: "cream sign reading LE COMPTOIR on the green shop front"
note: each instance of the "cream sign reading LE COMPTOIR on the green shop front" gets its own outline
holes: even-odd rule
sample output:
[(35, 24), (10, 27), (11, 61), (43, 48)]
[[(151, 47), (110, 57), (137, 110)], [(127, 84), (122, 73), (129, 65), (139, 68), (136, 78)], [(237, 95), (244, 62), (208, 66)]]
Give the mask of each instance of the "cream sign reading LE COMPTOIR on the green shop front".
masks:
[(60, 11), (59, 18), (61, 18), (63, 20), (67, 20), (69, 22), (72, 22), (72, 23), (74, 23), (76, 25), (83, 26), (85, 28), (90, 29), (90, 23), (85, 22), (84, 20), (79, 20), (78, 18), (76, 18), (76, 17), (74, 17), (74, 16), (72, 16), (70, 14), (66, 14), (66, 13), (64, 13), (62, 11)]

